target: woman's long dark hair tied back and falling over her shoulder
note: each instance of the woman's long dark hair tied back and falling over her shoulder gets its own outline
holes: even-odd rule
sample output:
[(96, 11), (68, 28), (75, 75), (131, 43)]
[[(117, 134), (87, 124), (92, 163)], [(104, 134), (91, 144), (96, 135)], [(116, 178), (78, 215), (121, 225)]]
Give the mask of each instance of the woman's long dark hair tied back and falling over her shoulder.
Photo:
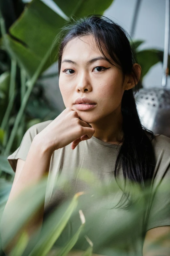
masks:
[[(138, 83), (138, 76), (133, 69), (133, 64), (137, 63), (133, 43), (130, 43), (130, 36), (127, 32), (111, 19), (100, 14), (89, 15), (76, 21), (73, 19), (73, 22), (63, 28), (62, 33), (64, 36), (60, 42), (58, 56), (59, 74), (66, 44), (73, 38), (93, 35), (102, 55), (107, 59), (105, 55), (107, 52), (111, 59), (120, 66), (123, 75), (132, 74), (135, 84)], [(155, 167), (154, 149), (151, 143), (154, 134), (144, 128), (139, 120), (134, 98), (137, 92), (136, 87), (137, 85), (135, 89), (125, 90), (122, 97), (124, 137), (117, 156), (114, 175), (116, 178), (118, 164), (121, 162), (125, 183), (129, 179), (131, 182), (139, 183), (144, 189), (145, 181), (151, 180)]]

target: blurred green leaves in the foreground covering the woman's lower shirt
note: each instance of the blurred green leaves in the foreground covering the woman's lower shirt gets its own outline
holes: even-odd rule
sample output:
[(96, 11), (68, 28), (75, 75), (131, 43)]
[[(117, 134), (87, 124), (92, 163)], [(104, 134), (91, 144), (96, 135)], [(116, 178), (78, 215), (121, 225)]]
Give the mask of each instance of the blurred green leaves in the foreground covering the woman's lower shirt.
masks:
[[(126, 210), (122, 210), (121, 208), (112, 208), (120, 200), (122, 194), (120, 187), (123, 187), (124, 184), (122, 179), (118, 179), (120, 186), (114, 179), (101, 183), (91, 171), (83, 169), (73, 179), (76, 182), (75, 185), (82, 184), (81, 182), (87, 185), (85, 187), (88, 189), (81, 191), (78, 187), (73, 186), (73, 180), (59, 176), (54, 186), (54, 193), (57, 196), (64, 191), (65, 197), (60, 204), (55, 204), (53, 210), (48, 213), (41, 232), (35, 230), (31, 237), (28, 237), (22, 227), (42, 206), (47, 179), (48, 177), (44, 177), (38, 184), (32, 185), (31, 189), (25, 189), (22, 194), (15, 197), (3, 216), (0, 212), (3, 248), (7, 247), (9, 241), (22, 229), (11, 255), (64, 256), (76, 255), (74, 251), (81, 250), (82, 253), (79, 255), (82, 256), (90, 256), (92, 252), (108, 256), (125, 256), (129, 250), (132, 255), (135, 255), (136, 246), (138, 248), (136, 255), (140, 255), (143, 232), (138, 231), (145, 230), (146, 213), (151, 203), (150, 199), (154, 196), (154, 191), (151, 191), (147, 184), (145, 190), (142, 190), (137, 184), (126, 185), (124, 192), (130, 192), (130, 198), (127, 201), (129, 206)], [(95, 183), (93, 184), (89, 180), (95, 180)], [(0, 196), (2, 197), (1, 190)], [(167, 181), (160, 186), (159, 194), (164, 196), (169, 192), (169, 181)], [(49, 198), (47, 198), (48, 200)], [(2, 201), (0, 202), (2, 203)], [(46, 207), (48, 209), (48, 203), (46, 203)], [(157, 217), (161, 217), (164, 211), (167, 209), (163, 209), (162, 212), (158, 211)], [(71, 230), (69, 230), (70, 225)], [(170, 237), (170, 233), (157, 240), (156, 244), (149, 244), (148, 250), (159, 249), (163, 240), (168, 237)], [(19, 254), (15, 254), (16, 252)]]

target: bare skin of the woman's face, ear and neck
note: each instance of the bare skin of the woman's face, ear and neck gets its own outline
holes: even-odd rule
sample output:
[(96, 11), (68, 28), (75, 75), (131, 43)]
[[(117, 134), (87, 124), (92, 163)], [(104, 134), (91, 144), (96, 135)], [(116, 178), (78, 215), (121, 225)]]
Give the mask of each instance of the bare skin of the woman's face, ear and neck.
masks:
[[(123, 82), (121, 69), (116, 63), (117, 67), (106, 60), (87, 63), (97, 57), (103, 55), (96, 47), (92, 36), (69, 41), (62, 56), (59, 87), (65, 107), (77, 111), (79, 118), (95, 129), (94, 137), (117, 144), (123, 136), (121, 99), (124, 90), (133, 88), (135, 81), (129, 75), (125, 76)], [(107, 57), (110, 59), (108, 55)], [(63, 62), (64, 60), (72, 60), (76, 64)], [(113, 60), (111, 62), (113, 63)], [(103, 67), (108, 69), (105, 70)], [(134, 64), (134, 68), (140, 77), (140, 66)], [(74, 101), (78, 97), (91, 99), (97, 103), (96, 107), (88, 111), (77, 110)], [(77, 145), (76, 142), (73, 144)]]

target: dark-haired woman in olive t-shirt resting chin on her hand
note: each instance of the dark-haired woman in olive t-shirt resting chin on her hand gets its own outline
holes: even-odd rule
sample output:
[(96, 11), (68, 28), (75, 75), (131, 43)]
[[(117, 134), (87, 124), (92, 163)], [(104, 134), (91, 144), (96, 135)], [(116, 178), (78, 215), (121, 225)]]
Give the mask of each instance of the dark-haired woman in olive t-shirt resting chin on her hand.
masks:
[[(170, 139), (154, 136), (140, 123), (133, 90), (141, 68), (126, 32), (103, 15), (79, 19), (63, 32), (58, 68), (66, 109), (53, 121), (29, 128), (20, 147), (8, 157), (16, 172), (8, 202), (45, 173), (55, 179), (60, 171), (71, 179), (75, 168), (89, 169), (101, 180), (122, 174), (142, 188), (147, 180), (158, 184), (168, 179)], [(144, 256), (170, 255), (169, 240), (157, 254), (147, 250), (148, 243), (170, 231), (169, 213), (154, 218), (155, 211), (165, 207), (158, 199), (149, 213)], [(169, 207), (169, 197), (165, 199)], [(45, 209), (50, 203), (45, 203)], [(30, 233), (42, 218), (43, 210), (30, 223)], [(139, 251), (135, 255), (142, 255)]]

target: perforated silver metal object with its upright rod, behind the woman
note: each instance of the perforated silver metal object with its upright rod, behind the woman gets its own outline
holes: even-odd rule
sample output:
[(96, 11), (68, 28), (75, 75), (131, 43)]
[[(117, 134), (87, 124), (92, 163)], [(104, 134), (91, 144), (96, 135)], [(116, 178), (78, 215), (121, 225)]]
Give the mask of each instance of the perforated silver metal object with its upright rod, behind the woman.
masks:
[(170, 90), (166, 89), (168, 75), (170, 0), (165, 6), (165, 42), (163, 55), (162, 87), (140, 89), (135, 95), (136, 107), (144, 127), (154, 134), (170, 137)]

